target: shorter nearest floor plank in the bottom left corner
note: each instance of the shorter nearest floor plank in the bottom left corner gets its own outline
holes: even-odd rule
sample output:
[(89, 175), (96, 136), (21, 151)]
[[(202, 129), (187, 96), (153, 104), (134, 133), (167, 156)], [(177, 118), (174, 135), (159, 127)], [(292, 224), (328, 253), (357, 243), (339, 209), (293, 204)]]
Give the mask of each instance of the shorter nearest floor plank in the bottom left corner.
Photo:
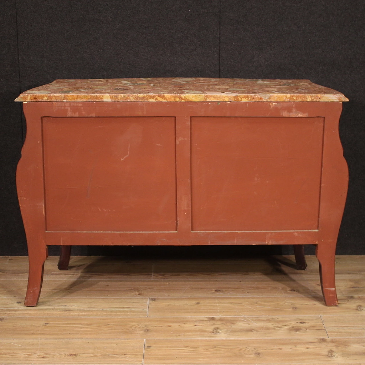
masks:
[(143, 340), (0, 340), (1, 364), (142, 364)]

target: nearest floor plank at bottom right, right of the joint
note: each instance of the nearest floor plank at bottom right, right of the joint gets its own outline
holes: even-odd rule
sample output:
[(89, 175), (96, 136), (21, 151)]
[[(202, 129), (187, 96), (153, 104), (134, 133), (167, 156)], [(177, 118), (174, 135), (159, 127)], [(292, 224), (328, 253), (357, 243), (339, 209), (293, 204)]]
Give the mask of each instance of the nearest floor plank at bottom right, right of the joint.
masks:
[(363, 338), (146, 340), (144, 364), (358, 364)]

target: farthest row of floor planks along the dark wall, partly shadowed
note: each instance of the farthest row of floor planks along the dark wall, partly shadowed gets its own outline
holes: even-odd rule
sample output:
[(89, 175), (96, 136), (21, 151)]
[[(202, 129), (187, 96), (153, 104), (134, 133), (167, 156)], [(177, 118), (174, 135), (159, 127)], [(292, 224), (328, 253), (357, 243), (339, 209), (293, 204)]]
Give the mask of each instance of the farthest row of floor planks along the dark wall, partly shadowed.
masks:
[[(307, 270), (296, 270), (293, 256), (273, 256), (267, 258), (242, 258), (235, 260), (123, 260), (118, 257), (96, 257), (96, 256), (73, 256), (70, 260), (70, 269), (60, 272), (57, 269), (58, 256), (50, 256), (45, 262), (46, 274), (96, 274), (105, 273), (122, 273), (139, 275), (151, 272), (151, 265), (155, 264), (154, 276), (167, 278), (178, 277), (179, 274), (188, 274), (189, 276), (200, 275), (202, 277), (212, 274), (281, 274), (291, 275), (318, 274), (318, 261), (315, 256), (306, 256), (308, 267)], [(352, 264), (349, 265), (349, 260)], [(28, 258), (4, 257), (0, 261), (0, 273), (27, 273)], [(337, 256), (336, 273), (363, 273), (362, 268), (365, 266), (365, 255), (358, 256)]]

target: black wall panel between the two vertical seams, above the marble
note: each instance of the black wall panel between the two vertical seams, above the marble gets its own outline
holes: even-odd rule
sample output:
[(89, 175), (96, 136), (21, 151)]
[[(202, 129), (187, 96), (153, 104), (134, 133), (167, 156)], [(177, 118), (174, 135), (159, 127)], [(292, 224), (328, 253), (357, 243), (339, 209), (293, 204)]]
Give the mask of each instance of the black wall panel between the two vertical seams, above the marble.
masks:
[(56, 78), (218, 77), (218, 0), (19, 0), (22, 90)]

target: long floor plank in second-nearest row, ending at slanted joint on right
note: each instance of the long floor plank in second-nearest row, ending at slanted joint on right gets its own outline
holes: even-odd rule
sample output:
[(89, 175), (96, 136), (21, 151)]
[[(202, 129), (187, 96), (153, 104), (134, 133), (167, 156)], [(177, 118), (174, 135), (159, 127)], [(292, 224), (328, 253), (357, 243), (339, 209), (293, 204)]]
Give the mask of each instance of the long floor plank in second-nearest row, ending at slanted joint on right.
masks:
[(71, 318), (1, 317), (1, 338), (317, 338), (319, 316)]

